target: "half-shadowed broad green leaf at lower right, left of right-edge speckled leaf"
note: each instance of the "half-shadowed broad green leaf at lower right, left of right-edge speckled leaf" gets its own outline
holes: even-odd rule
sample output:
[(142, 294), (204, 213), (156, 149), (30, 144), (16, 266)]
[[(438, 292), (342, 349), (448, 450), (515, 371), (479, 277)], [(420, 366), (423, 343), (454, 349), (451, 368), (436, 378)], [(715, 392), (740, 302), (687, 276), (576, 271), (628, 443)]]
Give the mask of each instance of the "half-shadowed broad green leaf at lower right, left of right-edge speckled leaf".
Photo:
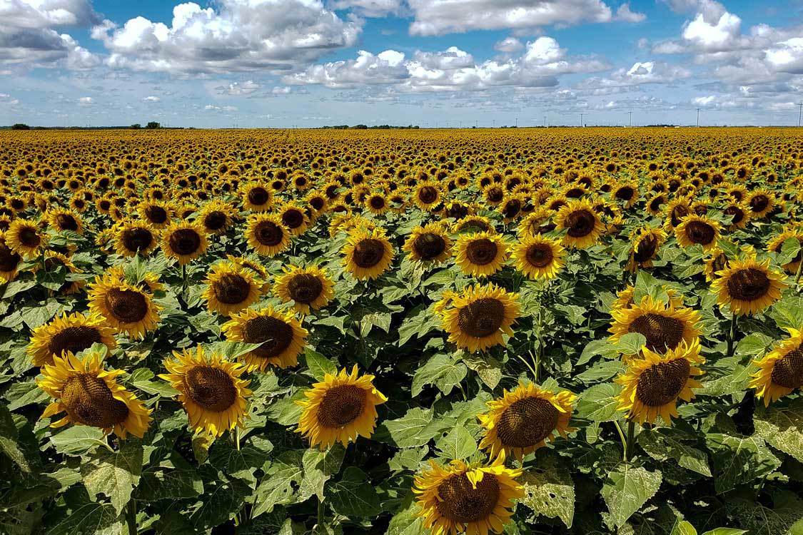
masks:
[(712, 452), (714, 488), (720, 494), (766, 476), (781, 466), (781, 461), (758, 436), (708, 433), (706, 443)]

